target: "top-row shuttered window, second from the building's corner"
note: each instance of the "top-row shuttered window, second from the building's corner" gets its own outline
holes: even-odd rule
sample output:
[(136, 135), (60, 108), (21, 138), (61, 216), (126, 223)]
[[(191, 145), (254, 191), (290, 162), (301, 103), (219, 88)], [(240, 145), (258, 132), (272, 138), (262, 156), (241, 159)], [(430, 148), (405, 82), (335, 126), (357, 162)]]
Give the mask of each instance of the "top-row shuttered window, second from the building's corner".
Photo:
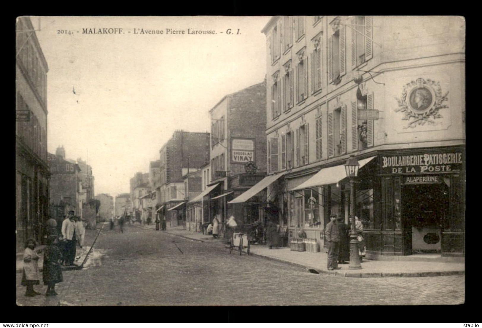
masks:
[(346, 32), (340, 27), (328, 39), (328, 81), (338, 83), (347, 73), (346, 69)]

